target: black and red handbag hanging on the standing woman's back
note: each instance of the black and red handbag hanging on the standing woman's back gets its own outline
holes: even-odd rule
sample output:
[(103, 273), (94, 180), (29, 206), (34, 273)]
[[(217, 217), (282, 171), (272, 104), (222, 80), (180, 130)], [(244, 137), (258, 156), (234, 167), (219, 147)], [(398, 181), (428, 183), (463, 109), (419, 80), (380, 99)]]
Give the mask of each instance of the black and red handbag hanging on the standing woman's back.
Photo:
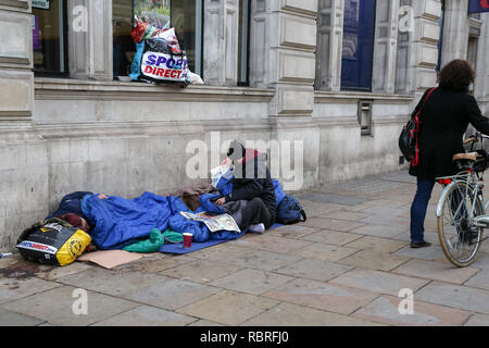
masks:
[(428, 100), (429, 95), (436, 88), (431, 88), (431, 90), (426, 96), (423, 105), (419, 110), (411, 116), (411, 120), (408, 121), (405, 126), (402, 128), (401, 135), (399, 136), (399, 149), (401, 150), (404, 158), (411, 162), (412, 166), (417, 166), (419, 162), (419, 147), (417, 145), (417, 136), (419, 133), (419, 117), (423, 111), (423, 108), (426, 104), (426, 100)]

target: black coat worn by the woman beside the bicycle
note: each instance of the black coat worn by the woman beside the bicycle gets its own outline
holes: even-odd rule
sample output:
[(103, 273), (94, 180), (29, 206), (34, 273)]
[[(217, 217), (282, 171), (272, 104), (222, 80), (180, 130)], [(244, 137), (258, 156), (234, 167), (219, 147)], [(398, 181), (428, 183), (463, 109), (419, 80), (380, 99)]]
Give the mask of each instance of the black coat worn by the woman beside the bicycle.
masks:
[[(429, 89), (413, 114), (419, 110)], [(437, 88), (423, 108), (419, 126), (419, 163), (410, 167), (410, 174), (419, 179), (434, 179), (456, 173), (452, 158), (462, 153), (463, 135), (471, 123), (489, 135), (489, 119), (482, 116), (477, 101), (468, 92)]]

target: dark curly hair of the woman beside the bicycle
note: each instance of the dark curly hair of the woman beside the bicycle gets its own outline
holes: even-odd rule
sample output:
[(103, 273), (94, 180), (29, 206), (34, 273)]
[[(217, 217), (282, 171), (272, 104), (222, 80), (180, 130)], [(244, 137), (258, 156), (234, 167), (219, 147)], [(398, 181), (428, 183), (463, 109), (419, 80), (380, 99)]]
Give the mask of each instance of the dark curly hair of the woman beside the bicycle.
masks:
[(440, 87), (464, 91), (475, 79), (475, 71), (471, 63), (455, 59), (443, 66), (440, 72)]

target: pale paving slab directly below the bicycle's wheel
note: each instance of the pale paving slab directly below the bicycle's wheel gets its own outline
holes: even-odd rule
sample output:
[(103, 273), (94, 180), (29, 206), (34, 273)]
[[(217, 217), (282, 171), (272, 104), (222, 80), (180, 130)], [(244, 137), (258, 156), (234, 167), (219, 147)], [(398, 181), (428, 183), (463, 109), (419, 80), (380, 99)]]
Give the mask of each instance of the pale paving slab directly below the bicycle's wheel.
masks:
[(436, 261), (411, 260), (392, 272), (447, 283), (463, 284), (477, 273), (477, 271), (478, 270), (474, 268), (460, 269), (452, 264)]

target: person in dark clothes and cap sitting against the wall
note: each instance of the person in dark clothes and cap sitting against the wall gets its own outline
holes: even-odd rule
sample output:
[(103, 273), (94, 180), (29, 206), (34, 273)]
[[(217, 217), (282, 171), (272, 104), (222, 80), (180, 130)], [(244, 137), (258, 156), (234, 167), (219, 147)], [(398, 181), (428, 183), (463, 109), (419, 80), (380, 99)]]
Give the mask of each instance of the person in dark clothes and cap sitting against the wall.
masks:
[[(240, 219), (236, 222), (241, 229), (250, 227), (250, 232), (264, 233), (274, 224), (277, 211), (266, 154), (246, 149), (242, 144), (234, 140), (227, 157), (235, 165), (233, 191), (217, 199), (216, 204), (239, 210)], [(236, 220), (236, 214), (234, 216)]]

